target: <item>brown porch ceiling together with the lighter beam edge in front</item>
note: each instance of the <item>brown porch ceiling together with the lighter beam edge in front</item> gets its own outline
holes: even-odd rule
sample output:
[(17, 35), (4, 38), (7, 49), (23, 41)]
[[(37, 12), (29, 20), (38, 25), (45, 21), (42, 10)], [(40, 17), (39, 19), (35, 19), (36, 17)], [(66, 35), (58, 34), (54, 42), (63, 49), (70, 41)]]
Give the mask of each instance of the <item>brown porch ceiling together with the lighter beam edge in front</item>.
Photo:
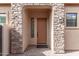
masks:
[(25, 13), (28, 13), (29, 16), (42, 16), (44, 15), (45, 17), (49, 17), (51, 13), (51, 8), (50, 6), (27, 6), (24, 8)]

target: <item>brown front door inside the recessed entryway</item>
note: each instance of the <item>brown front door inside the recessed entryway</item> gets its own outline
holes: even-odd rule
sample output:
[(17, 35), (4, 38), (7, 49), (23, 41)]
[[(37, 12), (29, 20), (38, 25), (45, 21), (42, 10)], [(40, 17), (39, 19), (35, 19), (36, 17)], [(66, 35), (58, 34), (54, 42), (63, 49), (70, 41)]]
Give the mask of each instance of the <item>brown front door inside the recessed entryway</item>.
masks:
[(37, 44), (47, 43), (47, 19), (37, 18)]

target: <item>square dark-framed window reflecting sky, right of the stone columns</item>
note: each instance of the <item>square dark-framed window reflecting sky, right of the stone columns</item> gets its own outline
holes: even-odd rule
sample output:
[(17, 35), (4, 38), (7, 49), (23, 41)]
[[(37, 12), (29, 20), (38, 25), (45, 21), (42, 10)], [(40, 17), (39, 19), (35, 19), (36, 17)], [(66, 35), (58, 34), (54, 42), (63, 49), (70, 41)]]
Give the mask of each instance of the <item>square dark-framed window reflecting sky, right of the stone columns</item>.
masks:
[(77, 13), (67, 13), (66, 14), (66, 26), (76, 27), (77, 26)]

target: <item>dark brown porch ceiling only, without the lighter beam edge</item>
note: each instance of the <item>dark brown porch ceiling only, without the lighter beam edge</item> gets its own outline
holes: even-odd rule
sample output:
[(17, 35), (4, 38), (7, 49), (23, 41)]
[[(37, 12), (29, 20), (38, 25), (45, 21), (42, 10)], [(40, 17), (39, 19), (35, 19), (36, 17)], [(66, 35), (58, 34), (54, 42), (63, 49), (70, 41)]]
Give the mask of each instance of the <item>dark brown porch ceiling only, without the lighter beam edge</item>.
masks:
[(27, 9), (28, 14), (31, 16), (35, 16), (35, 15), (39, 15), (39, 17), (42, 16), (46, 16), (49, 17), (51, 9), (42, 9), (42, 8), (31, 8), (31, 9)]

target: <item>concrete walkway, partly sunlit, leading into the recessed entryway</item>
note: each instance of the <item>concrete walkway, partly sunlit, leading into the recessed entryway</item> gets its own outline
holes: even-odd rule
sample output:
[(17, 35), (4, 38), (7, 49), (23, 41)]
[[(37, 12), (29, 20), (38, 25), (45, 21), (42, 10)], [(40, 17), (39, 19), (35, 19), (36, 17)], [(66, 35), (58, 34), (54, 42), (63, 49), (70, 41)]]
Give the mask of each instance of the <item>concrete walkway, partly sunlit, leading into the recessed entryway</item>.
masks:
[(79, 56), (79, 51), (67, 51), (65, 54), (53, 54), (49, 48), (29, 47), (23, 54), (11, 54), (9, 56)]

